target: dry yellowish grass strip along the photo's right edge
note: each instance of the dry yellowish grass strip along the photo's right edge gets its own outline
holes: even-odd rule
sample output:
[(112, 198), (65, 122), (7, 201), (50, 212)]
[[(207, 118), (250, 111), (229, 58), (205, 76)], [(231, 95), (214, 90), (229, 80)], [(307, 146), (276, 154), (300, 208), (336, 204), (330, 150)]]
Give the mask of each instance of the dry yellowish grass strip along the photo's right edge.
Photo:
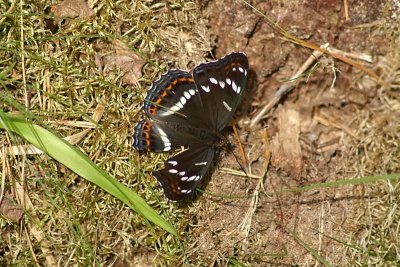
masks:
[[(390, 85), (381, 88), (374, 108), (358, 114), (359, 142), (352, 149), (354, 170), (359, 176), (400, 173), (400, 53), (391, 52), (381, 62), (383, 78)], [(362, 186), (365, 201), (355, 205), (353, 242), (361, 249), (351, 250), (358, 265), (386, 265), (398, 263), (400, 201), (398, 180), (387, 180)]]

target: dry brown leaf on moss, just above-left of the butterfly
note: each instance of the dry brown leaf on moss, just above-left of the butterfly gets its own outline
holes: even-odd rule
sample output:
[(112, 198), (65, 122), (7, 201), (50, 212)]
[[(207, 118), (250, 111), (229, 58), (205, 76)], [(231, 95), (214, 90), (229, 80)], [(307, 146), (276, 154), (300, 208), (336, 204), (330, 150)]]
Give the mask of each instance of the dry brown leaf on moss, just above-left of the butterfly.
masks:
[(103, 69), (104, 73), (119, 68), (123, 72), (122, 81), (126, 84), (135, 84), (142, 76), (142, 68), (146, 61), (120, 40), (113, 40), (111, 49), (112, 53), (102, 57), (102, 61), (98, 61), (103, 64), (103, 67), (98, 66), (98, 68)]

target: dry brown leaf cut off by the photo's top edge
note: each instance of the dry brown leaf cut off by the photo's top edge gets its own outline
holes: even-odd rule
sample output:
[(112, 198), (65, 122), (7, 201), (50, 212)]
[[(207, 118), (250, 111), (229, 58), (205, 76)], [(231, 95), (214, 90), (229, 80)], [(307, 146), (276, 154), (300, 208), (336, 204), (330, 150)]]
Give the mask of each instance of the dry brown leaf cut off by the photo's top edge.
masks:
[(84, 0), (64, 0), (51, 7), (54, 15), (63, 18), (86, 19), (94, 14), (94, 11)]

